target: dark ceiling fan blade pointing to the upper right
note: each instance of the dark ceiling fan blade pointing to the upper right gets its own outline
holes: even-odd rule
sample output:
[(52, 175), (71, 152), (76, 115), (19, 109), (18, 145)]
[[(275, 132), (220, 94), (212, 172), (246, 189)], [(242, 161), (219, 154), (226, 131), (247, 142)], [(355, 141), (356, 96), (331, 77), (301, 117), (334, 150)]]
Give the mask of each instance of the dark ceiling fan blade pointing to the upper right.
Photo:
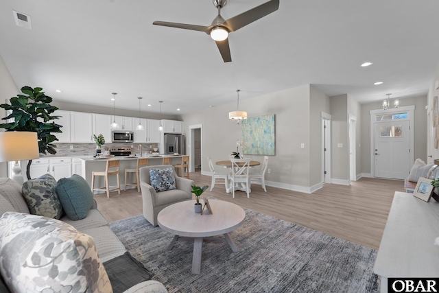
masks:
[(258, 19), (263, 18), (272, 12), (275, 12), (279, 8), (279, 0), (272, 0), (265, 2), (253, 9), (250, 9), (244, 13), (241, 13), (237, 16), (232, 17), (231, 19), (226, 20), (223, 25), (230, 30), (230, 32), (235, 32), (239, 30), (241, 27), (252, 23), (253, 21), (257, 21)]

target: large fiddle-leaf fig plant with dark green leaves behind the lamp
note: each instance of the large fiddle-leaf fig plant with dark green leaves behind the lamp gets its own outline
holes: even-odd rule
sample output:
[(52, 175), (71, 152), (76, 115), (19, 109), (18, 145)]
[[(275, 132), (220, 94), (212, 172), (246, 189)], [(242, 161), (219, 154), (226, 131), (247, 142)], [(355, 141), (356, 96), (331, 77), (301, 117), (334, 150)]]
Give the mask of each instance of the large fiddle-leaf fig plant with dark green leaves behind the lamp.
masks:
[[(45, 95), (43, 89), (36, 87), (32, 89), (30, 86), (23, 86), (21, 92), (25, 95), (17, 95), (10, 98), (10, 104), (1, 104), (0, 107), (6, 110), (8, 115), (2, 120), (6, 123), (0, 124), (0, 128), (6, 131), (30, 131), (36, 132), (38, 137), (38, 148), (40, 154), (56, 154), (56, 145), (54, 141), (58, 141), (52, 133), (62, 132), (59, 124), (53, 120), (60, 116), (51, 115), (58, 107), (51, 106), (52, 98)], [(8, 121), (9, 120), (9, 121)], [(29, 160), (26, 167), (27, 179), (30, 179)]]

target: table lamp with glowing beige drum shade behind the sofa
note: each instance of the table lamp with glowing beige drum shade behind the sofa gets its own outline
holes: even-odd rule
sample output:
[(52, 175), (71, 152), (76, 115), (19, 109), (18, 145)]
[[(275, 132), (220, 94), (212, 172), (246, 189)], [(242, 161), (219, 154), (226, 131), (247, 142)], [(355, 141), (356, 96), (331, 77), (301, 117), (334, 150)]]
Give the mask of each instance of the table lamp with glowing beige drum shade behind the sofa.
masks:
[(19, 161), (38, 159), (38, 137), (36, 132), (5, 131), (0, 132), (0, 162), (15, 161), (12, 167), (12, 179), (23, 185)]

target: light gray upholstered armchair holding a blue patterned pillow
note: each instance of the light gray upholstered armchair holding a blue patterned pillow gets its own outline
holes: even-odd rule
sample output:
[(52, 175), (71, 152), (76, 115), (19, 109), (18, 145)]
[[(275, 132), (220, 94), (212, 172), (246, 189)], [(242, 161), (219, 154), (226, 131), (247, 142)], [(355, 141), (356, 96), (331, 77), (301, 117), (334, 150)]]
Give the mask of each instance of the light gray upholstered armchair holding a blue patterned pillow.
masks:
[(151, 186), (150, 169), (165, 169), (169, 167), (172, 167), (172, 165), (147, 166), (139, 169), (143, 217), (154, 226), (158, 225), (157, 215), (162, 209), (176, 202), (192, 200), (191, 185), (194, 185), (193, 180), (178, 177), (174, 167), (172, 168), (174, 169), (177, 189), (157, 193), (154, 187)]

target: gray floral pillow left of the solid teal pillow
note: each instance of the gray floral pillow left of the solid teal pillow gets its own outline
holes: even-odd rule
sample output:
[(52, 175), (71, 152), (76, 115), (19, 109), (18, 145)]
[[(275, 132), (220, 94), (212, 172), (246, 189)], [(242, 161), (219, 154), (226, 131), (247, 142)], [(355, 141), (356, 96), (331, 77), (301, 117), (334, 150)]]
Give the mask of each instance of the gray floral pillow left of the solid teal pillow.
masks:
[(21, 187), (21, 191), (32, 215), (61, 218), (62, 206), (56, 195), (54, 176), (45, 174), (36, 179), (27, 180)]

